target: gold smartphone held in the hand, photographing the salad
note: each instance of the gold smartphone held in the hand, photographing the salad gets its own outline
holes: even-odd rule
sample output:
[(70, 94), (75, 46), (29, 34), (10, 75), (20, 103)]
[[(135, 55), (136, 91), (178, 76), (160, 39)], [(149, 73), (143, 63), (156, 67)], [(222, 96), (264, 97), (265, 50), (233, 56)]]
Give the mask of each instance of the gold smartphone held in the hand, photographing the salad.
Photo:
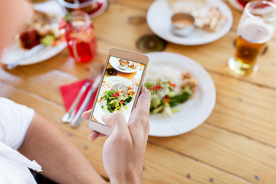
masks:
[(128, 122), (138, 100), (148, 60), (145, 55), (110, 49), (87, 124), (89, 129), (110, 135), (112, 127), (102, 121), (102, 116), (116, 111), (122, 111)]

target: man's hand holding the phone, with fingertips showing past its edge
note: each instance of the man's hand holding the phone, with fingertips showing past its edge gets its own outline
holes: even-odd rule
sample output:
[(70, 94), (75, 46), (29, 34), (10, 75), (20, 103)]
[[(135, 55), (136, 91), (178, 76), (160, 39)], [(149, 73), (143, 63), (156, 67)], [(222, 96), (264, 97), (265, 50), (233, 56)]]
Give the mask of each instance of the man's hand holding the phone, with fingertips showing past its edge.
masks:
[[(111, 184), (142, 183), (142, 167), (149, 133), (150, 96), (151, 93), (143, 87), (128, 123), (122, 112), (102, 117), (112, 127), (112, 134), (103, 148), (104, 167)], [(83, 113), (83, 119), (89, 118), (88, 113), (89, 111)], [(94, 132), (91, 132), (89, 140), (104, 136)]]

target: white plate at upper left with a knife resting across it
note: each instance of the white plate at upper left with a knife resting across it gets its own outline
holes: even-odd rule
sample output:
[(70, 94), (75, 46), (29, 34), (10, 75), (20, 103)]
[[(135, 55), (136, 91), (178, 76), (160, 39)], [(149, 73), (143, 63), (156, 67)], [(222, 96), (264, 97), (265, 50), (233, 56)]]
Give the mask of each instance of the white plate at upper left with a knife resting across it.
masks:
[[(55, 0), (37, 3), (34, 4), (33, 7), (36, 10), (44, 11), (50, 14), (55, 14), (59, 20), (64, 16), (62, 7)], [(56, 26), (58, 26), (58, 23), (56, 24)], [(44, 48), (32, 55), (31, 57), (29, 57), (28, 59), (26, 59), (25, 61), (22, 61), (20, 65), (34, 64), (52, 58), (53, 56), (61, 52), (66, 46), (67, 43), (64, 41), (62, 43), (59, 43), (55, 47)], [(20, 46), (19, 40), (15, 39), (11, 43), (11, 45), (4, 49), (1, 62), (4, 64), (11, 64), (28, 51), (29, 49), (22, 48)]]

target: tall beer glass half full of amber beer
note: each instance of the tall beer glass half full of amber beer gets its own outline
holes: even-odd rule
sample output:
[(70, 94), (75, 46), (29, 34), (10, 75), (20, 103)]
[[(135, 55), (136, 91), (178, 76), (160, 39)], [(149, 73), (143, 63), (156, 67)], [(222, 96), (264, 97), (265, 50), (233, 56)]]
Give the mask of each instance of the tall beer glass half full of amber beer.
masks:
[(248, 2), (240, 19), (234, 58), (229, 68), (238, 75), (258, 69), (257, 58), (276, 29), (276, 4), (266, 0)]

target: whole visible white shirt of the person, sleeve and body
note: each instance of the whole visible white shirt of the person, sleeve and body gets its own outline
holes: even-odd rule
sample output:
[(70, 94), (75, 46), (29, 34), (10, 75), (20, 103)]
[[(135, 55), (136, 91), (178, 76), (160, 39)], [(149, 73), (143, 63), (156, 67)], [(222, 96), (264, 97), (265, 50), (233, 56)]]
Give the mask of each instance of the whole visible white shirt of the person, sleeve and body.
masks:
[(28, 168), (41, 171), (41, 166), (16, 151), (33, 115), (33, 109), (0, 97), (0, 184), (36, 184)]

